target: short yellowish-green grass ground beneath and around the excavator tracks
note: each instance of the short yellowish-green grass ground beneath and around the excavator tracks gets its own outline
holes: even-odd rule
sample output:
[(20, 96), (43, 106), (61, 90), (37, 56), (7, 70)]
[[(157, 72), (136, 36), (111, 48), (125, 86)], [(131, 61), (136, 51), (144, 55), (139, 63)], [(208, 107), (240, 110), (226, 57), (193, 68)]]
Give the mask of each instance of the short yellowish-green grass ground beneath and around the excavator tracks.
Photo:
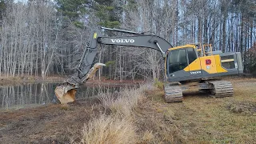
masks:
[[(234, 97), (211, 98), (190, 90), (182, 103), (166, 104), (162, 90), (148, 91), (152, 99), (144, 104), (150, 109), (138, 117), (150, 117), (149, 130), (157, 140), (152, 142), (182, 143), (254, 143), (256, 141), (256, 81), (231, 80)], [(150, 106), (146, 106), (150, 105)], [(143, 109), (143, 108), (142, 108)], [(161, 120), (159, 120), (161, 119)], [(138, 122), (139, 125), (142, 123)], [(163, 128), (161, 128), (163, 127)], [(162, 129), (162, 130), (161, 130)], [(169, 131), (168, 131), (169, 130)], [(160, 135), (159, 135), (160, 133)], [(170, 136), (168, 134), (173, 134)]]

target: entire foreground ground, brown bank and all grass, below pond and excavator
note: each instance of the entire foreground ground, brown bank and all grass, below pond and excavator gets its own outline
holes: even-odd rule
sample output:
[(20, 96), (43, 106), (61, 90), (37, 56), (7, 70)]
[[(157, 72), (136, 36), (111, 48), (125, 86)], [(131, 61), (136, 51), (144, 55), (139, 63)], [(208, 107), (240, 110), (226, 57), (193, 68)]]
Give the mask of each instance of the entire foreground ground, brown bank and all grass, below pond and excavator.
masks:
[(151, 85), (68, 106), (1, 111), (0, 143), (254, 143), (256, 79), (231, 79), (234, 96), (197, 91), (166, 103)]

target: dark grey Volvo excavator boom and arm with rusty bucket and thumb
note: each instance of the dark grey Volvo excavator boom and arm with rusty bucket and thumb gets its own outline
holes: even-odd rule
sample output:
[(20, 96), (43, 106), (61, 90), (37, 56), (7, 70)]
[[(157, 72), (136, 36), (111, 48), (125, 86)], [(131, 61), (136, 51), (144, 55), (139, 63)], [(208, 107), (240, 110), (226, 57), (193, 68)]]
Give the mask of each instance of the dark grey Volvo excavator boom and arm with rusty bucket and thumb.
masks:
[(166, 51), (172, 47), (170, 43), (167, 42), (164, 38), (158, 37), (156, 35), (144, 35), (133, 31), (110, 29), (104, 27), (102, 27), (102, 29), (114, 30), (133, 35), (103, 37), (97, 33), (94, 33), (93, 37), (90, 39), (90, 45), (87, 46), (83, 51), (82, 58), (76, 68), (76, 73), (74, 73), (70, 78), (66, 80), (65, 85), (58, 86), (55, 89), (55, 94), (62, 104), (74, 102), (75, 93), (79, 88), (79, 85), (91, 78), (99, 68), (105, 66), (102, 63), (94, 63), (98, 54), (98, 44), (146, 47), (158, 50), (161, 52), (163, 57), (166, 56)]

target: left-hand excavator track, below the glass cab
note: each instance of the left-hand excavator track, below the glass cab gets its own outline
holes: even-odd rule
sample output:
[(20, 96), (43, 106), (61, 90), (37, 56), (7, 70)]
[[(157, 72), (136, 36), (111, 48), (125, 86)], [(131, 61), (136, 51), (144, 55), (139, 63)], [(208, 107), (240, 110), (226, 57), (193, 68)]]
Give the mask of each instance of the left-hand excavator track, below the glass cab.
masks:
[(182, 102), (182, 87), (177, 85), (166, 85), (165, 100), (167, 103)]

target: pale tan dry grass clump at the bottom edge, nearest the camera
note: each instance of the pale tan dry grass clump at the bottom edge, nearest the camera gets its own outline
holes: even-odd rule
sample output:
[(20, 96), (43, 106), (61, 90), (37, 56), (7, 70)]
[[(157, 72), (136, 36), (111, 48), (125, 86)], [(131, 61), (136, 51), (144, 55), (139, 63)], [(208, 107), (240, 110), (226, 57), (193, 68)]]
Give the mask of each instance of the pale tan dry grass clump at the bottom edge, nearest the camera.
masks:
[(129, 118), (101, 115), (82, 130), (82, 143), (121, 144), (136, 142), (135, 126)]

